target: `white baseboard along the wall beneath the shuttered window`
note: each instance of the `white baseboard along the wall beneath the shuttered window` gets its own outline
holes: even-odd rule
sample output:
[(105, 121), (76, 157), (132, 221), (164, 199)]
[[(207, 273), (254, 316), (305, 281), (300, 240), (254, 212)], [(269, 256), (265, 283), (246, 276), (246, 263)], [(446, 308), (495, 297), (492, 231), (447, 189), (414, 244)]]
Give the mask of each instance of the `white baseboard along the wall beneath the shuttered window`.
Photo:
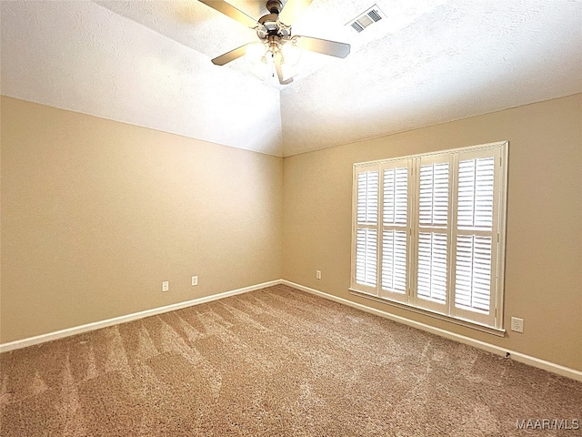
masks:
[(442, 330), (440, 328), (436, 328), (434, 326), (426, 325), (426, 323), (421, 323), (416, 320), (406, 319), (406, 317), (396, 316), (394, 314), (390, 314), (383, 310), (376, 310), (374, 308), (367, 307), (366, 305), (362, 305), (361, 303), (356, 303), (351, 300), (346, 300), (343, 298), (338, 298), (337, 296), (333, 296), (331, 294), (327, 294), (323, 291), (310, 289), (309, 287), (305, 287), (300, 284), (296, 284), (294, 282), (290, 282), (288, 280), (282, 279), (280, 283), (288, 285), (289, 287), (293, 287), (297, 290), (303, 290), (308, 293), (315, 294), (322, 298), (326, 298), (328, 300), (334, 300), (338, 303), (342, 303), (352, 308), (356, 308), (357, 310), (363, 310), (369, 312), (371, 314), (376, 314), (376, 316), (384, 317), (389, 320), (394, 320), (400, 323), (404, 323), (405, 325), (411, 326), (418, 330), (426, 330), (426, 332), (431, 332), (433, 334), (437, 334), (441, 337), (445, 337), (449, 340), (455, 340), (463, 344), (467, 344), (469, 346), (474, 346), (477, 349), (481, 349), (483, 351), (488, 351), (495, 353), (497, 355), (501, 355), (503, 357), (507, 356), (509, 353), (509, 358), (523, 362), (533, 367), (537, 367), (538, 369), (543, 369), (545, 371), (551, 371), (552, 373), (557, 373), (561, 376), (566, 376), (572, 380), (581, 381), (582, 382), (582, 371), (577, 371), (575, 369), (570, 369), (569, 367), (562, 366), (560, 364), (556, 364), (554, 362), (540, 360), (539, 358), (532, 357), (530, 355), (526, 355), (525, 353), (520, 353), (517, 351), (509, 351), (507, 349), (501, 348), (496, 346), (495, 344), (487, 343), (486, 341), (475, 340), (470, 337), (466, 337), (465, 335), (457, 334), (455, 332), (451, 332), (450, 330)]

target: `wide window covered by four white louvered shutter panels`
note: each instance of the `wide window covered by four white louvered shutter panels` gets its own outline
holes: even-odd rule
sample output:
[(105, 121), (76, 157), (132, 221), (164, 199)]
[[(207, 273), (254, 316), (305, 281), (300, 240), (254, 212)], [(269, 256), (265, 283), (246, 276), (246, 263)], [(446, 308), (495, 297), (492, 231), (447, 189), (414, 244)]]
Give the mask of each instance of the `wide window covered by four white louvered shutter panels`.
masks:
[(507, 141), (354, 166), (351, 290), (502, 328)]

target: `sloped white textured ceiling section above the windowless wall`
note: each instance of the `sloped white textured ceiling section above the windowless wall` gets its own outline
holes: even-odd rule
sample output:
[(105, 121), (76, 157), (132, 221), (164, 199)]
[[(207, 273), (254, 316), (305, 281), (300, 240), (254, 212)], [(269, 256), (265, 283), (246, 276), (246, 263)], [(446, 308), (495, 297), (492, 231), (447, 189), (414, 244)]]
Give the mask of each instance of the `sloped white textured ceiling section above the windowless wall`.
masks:
[(277, 89), (93, 2), (1, 5), (2, 94), (282, 155)]

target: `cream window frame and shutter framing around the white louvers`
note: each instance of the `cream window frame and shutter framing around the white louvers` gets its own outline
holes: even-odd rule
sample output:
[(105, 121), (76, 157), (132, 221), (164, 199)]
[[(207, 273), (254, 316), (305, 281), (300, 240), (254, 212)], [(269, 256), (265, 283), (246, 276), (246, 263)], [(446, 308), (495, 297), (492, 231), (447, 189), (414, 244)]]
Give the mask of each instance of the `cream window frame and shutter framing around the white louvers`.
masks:
[[(352, 244), (350, 291), (352, 294), (381, 301), (399, 308), (412, 310), (421, 314), (452, 321), (471, 328), (477, 328), (497, 335), (505, 332), (503, 328), (503, 302), (505, 285), (506, 258), (506, 223), (507, 223), (507, 158), (508, 141), (498, 141), (470, 147), (457, 147), (426, 154), (416, 154), (406, 157), (387, 158), (376, 161), (356, 163), (353, 166), (352, 187)], [(457, 235), (472, 235), (467, 230), (457, 229), (458, 219), (458, 172), (459, 163), (470, 157), (494, 158), (493, 181), (493, 224), (489, 232), (491, 236), (491, 267), (490, 294), (488, 314), (483, 311), (467, 310), (456, 305), (456, 273), (457, 273)], [(431, 162), (448, 162), (448, 209), (447, 228), (427, 227), (430, 230), (445, 230), (447, 234), (447, 285), (446, 300), (440, 303), (426, 300), (418, 296), (418, 244), (420, 201), (420, 168)], [(406, 163), (407, 176), (407, 223), (406, 223), (406, 293), (383, 289), (382, 266), (384, 251), (384, 188), (385, 171), (389, 168), (402, 168)], [(400, 167), (399, 167), (400, 166)], [(356, 208), (358, 175), (365, 171), (378, 171), (377, 220), (376, 220), (376, 285), (363, 286), (356, 282)], [(390, 227), (388, 227), (390, 228)], [(477, 231), (477, 234), (480, 231)], [(487, 232), (480, 234), (486, 235)]]

